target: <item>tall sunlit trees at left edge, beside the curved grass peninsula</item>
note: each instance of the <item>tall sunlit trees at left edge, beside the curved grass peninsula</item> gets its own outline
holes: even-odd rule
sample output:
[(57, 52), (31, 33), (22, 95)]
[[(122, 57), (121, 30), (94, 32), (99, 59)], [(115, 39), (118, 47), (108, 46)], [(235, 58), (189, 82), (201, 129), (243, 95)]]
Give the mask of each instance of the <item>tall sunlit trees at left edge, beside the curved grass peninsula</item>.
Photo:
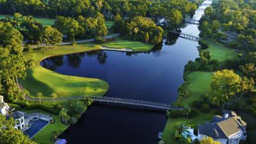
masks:
[(26, 68), (33, 65), (23, 56), (22, 39), (10, 22), (0, 22), (0, 95), (11, 102), (20, 97), (18, 78), (26, 77)]

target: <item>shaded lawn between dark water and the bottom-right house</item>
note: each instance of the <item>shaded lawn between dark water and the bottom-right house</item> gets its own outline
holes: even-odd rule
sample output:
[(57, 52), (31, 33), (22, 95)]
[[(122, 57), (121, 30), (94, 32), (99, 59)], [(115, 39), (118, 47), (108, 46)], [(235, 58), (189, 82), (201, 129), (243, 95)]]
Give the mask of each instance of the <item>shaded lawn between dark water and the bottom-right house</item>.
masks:
[(176, 125), (179, 124), (179, 122), (184, 122), (189, 127), (198, 129), (198, 124), (205, 124), (206, 121), (211, 122), (214, 115), (214, 111), (211, 111), (211, 113), (202, 113), (198, 111), (198, 116), (188, 120), (186, 118), (168, 118), (161, 140), (164, 141), (164, 144), (178, 143), (175, 139), (175, 131)]

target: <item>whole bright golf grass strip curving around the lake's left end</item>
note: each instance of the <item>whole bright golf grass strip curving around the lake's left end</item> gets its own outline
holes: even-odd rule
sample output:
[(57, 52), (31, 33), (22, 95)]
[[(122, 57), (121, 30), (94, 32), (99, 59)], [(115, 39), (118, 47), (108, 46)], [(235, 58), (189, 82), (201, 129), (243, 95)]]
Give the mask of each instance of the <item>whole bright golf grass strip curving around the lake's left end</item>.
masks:
[(102, 96), (108, 92), (109, 84), (100, 79), (92, 79), (76, 76), (65, 76), (40, 66), (40, 60), (47, 56), (58, 56), (76, 52), (100, 50), (102, 46), (113, 48), (129, 48), (135, 52), (149, 51), (154, 45), (144, 42), (133, 42), (115, 37), (116, 41), (106, 44), (93, 45), (61, 45), (51, 51), (28, 52), (24, 56), (27, 60), (35, 59), (35, 66), (26, 70), (27, 76), (19, 83), (27, 90), (28, 95), (36, 98), (36, 93), (43, 94), (42, 99), (52, 99), (51, 93), (58, 95), (57, 99), (65, 97), (86, 97), (88, 95)]

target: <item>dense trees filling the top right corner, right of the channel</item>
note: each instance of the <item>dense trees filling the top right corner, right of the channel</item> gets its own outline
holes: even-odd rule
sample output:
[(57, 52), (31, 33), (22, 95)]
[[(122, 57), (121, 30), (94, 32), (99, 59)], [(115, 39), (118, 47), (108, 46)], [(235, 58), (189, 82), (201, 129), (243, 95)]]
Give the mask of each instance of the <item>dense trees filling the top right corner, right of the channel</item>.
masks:
[(200, 19), (200, 36), (215, 38), (218, 42), (227, 40), (223, 31), (236, 31), (239, 35), (228, 45), (234, 49), (256, 51), (256, 4), (253, 1), (221, 0), (206, 8)]

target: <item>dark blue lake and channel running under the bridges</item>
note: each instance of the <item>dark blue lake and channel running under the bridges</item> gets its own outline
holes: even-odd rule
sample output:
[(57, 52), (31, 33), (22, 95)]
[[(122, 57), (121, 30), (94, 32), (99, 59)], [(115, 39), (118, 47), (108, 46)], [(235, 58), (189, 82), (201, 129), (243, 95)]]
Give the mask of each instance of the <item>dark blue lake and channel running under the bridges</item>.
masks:
[[(191, 18), (198, 20), (203, 12)], [(198, 36), (196, 24), (184, 24), (182, 33)], [(170, 104), (184, 82), (184, 65), (198, 57), (196, 41), (168, 35), (148, 52), (93, 51), (48, 58), (40, 64), (60, 74), (92, 77), (109, 83), (106, 97)], [(68, 143), (156, 144), (166, 116), (157, 111), (94, 104), (59, 138)]]

